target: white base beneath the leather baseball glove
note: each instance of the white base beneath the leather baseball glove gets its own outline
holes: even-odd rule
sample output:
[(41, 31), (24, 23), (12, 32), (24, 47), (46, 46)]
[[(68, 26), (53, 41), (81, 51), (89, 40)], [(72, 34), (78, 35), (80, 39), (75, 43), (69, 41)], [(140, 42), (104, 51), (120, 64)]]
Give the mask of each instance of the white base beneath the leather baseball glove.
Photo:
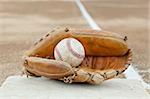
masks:
[(90, 85), (11, 76), (0, 87), (0, 99), (150, 99), (150, 96), (138, 80), (113, 79)]

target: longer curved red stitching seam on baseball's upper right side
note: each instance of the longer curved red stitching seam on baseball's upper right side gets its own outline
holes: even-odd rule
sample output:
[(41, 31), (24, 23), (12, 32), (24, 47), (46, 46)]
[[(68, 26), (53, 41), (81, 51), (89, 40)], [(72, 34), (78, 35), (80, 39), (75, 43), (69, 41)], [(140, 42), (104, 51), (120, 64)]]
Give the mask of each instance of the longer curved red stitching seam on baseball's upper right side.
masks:
[(84, 58), (84, 55), (79, 54), (78, 52), (76, 52), (75, 50), (73, 50), (73, 48), (71, 47), (71, 39), (67, 40), (67, 48), (68, 50), (77, 58)]

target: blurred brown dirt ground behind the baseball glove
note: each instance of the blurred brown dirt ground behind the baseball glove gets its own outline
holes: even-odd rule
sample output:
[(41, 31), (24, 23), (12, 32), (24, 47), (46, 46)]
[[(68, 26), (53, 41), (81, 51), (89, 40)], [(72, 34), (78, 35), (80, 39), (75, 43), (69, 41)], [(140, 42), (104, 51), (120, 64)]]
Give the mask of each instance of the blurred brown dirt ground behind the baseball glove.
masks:
[[(148, 0), (84, 0), (102, 29), (125, 33), (135, 68), (150, 83)], [(58, 26), (90, 28), (74, 1), (0, 0), (0, 85), (22, 69), (23, 52)]]

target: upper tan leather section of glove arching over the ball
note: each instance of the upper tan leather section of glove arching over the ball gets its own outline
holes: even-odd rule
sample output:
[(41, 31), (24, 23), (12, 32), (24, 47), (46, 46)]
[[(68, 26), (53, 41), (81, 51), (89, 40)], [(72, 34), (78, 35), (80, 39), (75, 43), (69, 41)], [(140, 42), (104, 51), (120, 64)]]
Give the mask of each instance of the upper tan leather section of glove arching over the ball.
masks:
[[(41, 38), (35, 46), (28, 50), (26, 56), (53, 56), (54, 47), (62, 39), (72, 37), (78, 39), (84, 46), (88, 56), (122, 56), (128, 51), (126, 37), (117, 33), (98, 30), (56, 29)], [(94, 46), (93, 46), (94, 45)]]

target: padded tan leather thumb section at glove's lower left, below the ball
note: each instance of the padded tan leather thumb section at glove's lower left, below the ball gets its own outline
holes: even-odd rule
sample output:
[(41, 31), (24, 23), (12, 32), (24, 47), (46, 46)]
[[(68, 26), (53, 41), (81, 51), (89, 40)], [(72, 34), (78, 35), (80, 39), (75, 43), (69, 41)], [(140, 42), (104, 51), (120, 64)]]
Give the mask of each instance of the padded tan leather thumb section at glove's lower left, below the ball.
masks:
[(66, 62), (39, 57), (26, 57), (24, 66), (32, 74), (52, 79), (58, 79), (74, 73), (72, 67)]

